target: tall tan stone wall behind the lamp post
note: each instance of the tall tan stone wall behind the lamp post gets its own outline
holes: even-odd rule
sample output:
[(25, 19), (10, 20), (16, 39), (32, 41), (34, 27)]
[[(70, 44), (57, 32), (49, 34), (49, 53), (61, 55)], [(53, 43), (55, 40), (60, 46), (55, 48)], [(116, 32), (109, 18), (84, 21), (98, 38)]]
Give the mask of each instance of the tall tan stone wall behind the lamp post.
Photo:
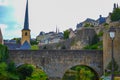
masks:
[[(115, 39), (113, 42), (113, 50), (114, 50), (114, 59), (119, 65), (120, 70), (120, 23), (114, 22), (110, 23), (110, 26), (114, 26), (116, 29)], [(109, 37), (108, 31), (106, 31), (103, 35), (103, 62), (104, 62), (104, 70), (106, 69), (107, 65), (111, 61), (111, 50), (112, 50), (112, 40)]]

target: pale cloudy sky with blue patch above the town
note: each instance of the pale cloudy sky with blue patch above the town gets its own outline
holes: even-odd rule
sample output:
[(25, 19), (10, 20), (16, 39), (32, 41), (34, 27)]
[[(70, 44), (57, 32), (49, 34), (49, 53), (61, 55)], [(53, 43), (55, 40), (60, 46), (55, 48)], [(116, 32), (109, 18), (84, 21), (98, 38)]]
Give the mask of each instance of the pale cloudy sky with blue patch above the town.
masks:
[[(29, 28), (35, 38), (41, 31), (76, 29), (86, 18), (107, 17), (120, 0), (28, 0)], [(26, 0), (0, 0), (0, 27), (4, 39), (21, 37)]]

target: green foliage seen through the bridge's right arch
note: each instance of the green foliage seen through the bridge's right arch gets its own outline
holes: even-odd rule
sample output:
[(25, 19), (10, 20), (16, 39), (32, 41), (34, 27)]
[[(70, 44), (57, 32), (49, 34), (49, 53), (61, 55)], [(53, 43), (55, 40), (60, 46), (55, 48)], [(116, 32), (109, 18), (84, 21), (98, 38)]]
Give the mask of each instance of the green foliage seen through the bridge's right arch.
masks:
[(75, 66), (65, 73), (62, 80), (97, 80), (97, 74), (87, 66)]

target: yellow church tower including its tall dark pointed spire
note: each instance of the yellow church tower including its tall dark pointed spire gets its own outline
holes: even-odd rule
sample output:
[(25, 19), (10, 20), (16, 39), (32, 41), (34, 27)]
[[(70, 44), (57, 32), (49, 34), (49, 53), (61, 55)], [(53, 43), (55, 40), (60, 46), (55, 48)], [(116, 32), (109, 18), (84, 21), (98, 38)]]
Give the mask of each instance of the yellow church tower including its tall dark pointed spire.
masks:
[(30, 29), (29, 29), (28, 0), (27, 0), (24, 28), (22, 29), (21, 45), (23, 45), (25, 42), (28, 42), (30, 44), (30, 38), (31, 38), (31, 35), (30, 35)]

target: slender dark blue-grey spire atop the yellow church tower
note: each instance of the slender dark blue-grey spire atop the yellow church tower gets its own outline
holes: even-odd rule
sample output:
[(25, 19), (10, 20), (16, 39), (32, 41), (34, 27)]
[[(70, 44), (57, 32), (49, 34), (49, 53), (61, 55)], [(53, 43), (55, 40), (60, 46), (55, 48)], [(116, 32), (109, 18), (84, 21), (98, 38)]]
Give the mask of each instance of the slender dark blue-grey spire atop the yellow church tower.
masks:
[(29, 30), (28, 0), (26, 2), (25, 21), (24, 21), (24, 29), (23, 30)]

